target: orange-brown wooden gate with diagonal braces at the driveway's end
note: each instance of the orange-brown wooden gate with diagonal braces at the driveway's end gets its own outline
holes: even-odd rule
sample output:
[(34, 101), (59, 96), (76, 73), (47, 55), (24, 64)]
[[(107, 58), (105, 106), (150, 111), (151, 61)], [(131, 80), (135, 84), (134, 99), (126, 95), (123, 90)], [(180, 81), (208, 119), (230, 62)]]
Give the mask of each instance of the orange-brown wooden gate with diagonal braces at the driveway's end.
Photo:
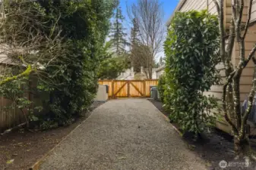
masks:
[(158, 80), (100, 80), (99, 84), (109, 85), (109, 97), (150, 97), (150, 85)]

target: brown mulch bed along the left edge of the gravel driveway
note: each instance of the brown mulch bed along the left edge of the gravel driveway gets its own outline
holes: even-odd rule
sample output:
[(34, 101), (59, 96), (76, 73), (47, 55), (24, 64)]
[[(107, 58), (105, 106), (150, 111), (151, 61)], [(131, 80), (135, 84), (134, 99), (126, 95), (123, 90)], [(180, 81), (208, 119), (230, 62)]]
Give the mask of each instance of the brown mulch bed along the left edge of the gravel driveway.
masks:
[[(90, 111), (103, 102), (94, 102)], [(55, 145), (62, 141), (77, 125), (90, 116), (90, 112), (73, 124), (48, 131), (24, 131), (20, 128), (0, 136), (0, 169), (28, 169)]]

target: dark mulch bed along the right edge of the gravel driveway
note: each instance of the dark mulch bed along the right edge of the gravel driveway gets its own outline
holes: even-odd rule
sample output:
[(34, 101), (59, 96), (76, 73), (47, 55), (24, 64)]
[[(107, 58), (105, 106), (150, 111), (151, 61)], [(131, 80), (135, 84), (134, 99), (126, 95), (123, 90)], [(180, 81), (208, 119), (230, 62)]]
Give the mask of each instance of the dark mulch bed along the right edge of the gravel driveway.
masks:
[[(153, 99), (149, 100), (164, 115), (169, 116), (169, 114), (163, 110), (162, 102)], [(175, 125), (175, 128), (179, 129), (179, 126)], [(192, 150), (205, 160), (209, 169), (222, 169), (219, 165), (221, 160), (225, 160), (226, 162), (236, 162), (236, 160), (234, 160), (233, 141), (231, 135), (216, 128), (213, 128), (212, 131), (202, 135), (204, 138), (203, 141), (194, 141), (189, 134), (184, 134), (182, 138), (186, 142), (188, 149)], [(251, 139), (251, 147), (253, 150), (256, 150), (255, 139)], [(225, 169), (256, 169), (256, 164), (254, 162), (250, 167), (232, 166)]]

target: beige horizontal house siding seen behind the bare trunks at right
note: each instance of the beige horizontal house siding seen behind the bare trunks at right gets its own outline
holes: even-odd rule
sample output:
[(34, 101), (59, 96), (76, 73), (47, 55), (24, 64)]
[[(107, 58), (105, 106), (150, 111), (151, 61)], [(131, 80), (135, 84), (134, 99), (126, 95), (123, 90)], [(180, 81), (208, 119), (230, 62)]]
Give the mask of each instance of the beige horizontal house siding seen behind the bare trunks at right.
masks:
[[(182, 0), (181, 0), (182, 1)], [(226, 29), (229, 29), (229, 24), (232, 16), (232, 0), (224, 0), (224, 24), (226, 26)], [(210, 14), (217, 14), (216, 7), (213, 3), (213, 0), (185, 0), (183, 1), (184, 4), (180, 5), (179, 9), (176, 9), (176, 11), (191, 11), (191, 10), (202, 10), (207, 9)], [(248, 14), (248, 1), (245, 2), (245, 9), (243, 11), (242, 16), (242, 24), (245, 24), (247, 20), (247, 14)], [(173, 15), (172, 15), (173, 16)], [(256, 21), (256, 0), (253, 0), (252, 3), (252, 10), (251, 10), (251, 23)], [(251, 25), (248, 29), (248, 35), (245, 39), (245, 56), (248, 56), (248, 53), (251, 51), (251, 48), (256, 43), (256, 25)], [(233, 49), (232, 53), (232, 63), (234, 66), (237, 66), (239, 64), (239, 45), (237, 42), (235, 42), (235, 48)], [(219, 64), (216, 66), (217, 70), (220, 70), (220, 76), (222, 77), (222, 83), (225, 82), (225, 70), (223, 64)], [(253, 74), (253, 63), (248, 63), (248, 66), (243, 70), (242, 77), (240, 79), (240, 94), (241, 94), (241, 100), (240, 102), (243, 102), (245, 98), (248, 96), (250, 90), (251, 90), (251, 82), (252, 82), (252, 75)], [(213, 95), (219, 99), (222, 98), (222, 92), (223, 86), (222, 85), (213, 85), (210, 88), (210, 91), (205, 92), (204, 94)], [(226, 121), (222, 119), (223, 121), (217, 121), (216, 127), (222, 129), (223, 131), (226, 131), (228, 133), (231, 133), (229, 125), (227, 125)]]

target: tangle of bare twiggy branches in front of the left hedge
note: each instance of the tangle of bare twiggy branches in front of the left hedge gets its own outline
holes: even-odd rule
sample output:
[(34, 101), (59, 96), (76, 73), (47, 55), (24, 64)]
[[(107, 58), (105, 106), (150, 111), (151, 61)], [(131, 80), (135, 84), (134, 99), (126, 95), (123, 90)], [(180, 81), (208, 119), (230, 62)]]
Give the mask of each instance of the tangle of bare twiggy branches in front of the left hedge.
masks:
[[(46, 74), (46, 67), (60, 60), (60, 57), (65, 57), (66, 46), (60, 38), (62, 30), (57, 25), (61, 15), (54, 23), (48, 24), (48, 20), (41, 20), (44, 18), (43, 13), (33, 3), (19, 2), (10, 5), (13, 6), (8, 8), (7, 5), (7, 17), (2, 18), (0, 25), (0, 56), (5, 57), (12, 67), (0, 70), (0, 82), (11, 81), (12, 77), (24, 76), (24, 73), (33, 73), (40, 79), (40, 76)], [(49, 34), (44, 29), (50, 30)], [(15, 75), (13, 69), (17, 68), (19, 73)]]

